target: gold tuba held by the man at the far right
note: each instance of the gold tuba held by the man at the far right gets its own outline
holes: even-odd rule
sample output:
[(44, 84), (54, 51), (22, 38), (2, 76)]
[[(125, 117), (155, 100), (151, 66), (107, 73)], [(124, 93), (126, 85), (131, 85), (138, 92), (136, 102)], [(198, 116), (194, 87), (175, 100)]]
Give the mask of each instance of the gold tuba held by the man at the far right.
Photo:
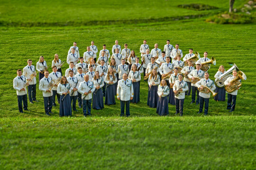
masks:
[(241, 79), (246, 80), (247, 77), (246, 77), (245, 73), (243, 73), (242, 71), (238, 71), (238, 75), (233, 80), (231, 80), (229, 82), (230, 85), (225, 85), (225, 90), (228, 93), (231, 93), (231, 92), (235, 91), (237, 88), (240, 88), (242, 83), (239, 80), (241, 80)]

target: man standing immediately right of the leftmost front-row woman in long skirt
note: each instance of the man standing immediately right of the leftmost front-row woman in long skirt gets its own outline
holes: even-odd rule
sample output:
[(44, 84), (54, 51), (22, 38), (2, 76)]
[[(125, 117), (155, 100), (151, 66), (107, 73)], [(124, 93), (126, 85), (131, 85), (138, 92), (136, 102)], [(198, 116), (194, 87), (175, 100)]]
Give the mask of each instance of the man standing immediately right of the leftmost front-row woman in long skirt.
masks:
[(78, 89), (78, 80), (76, 77), (74, 77), (74, 72), (72, 70), (69, 71), (69, 77), (67, 77), (70, 86), (73, 88), (71, 93), (70, 93), (70, 100), (72, 104), (72, 109), (73, 111), (78, 111), (76, 110), (75, 104), (77, 100), (77, 89)]

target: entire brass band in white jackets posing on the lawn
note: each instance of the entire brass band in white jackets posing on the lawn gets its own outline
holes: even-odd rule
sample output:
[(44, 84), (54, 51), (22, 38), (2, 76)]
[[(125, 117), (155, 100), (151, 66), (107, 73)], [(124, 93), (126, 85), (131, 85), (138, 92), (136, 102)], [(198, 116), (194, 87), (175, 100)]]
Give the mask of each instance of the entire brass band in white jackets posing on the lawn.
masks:
[[(97, 61), (98, 48), (93, 41), (83, 53), (83, 57), (80, 57), (79, 48), (76, 45), (77, 43), (73, 42), (73, 46), (68, 51), (66, 62), (69, 68), (65, 70), (65, 75), (62, 74), (61, 69), (64, 61), (59, 59), (58, 54), (55, 54), (51, 67), (48, 67), (44, 57), (40, 56), (36, 67), (32, 65), (32, 60), (28, 59), (23, 72), (21, 69), (17, 70), (18, 76), (13, 79), (13, 87), (17, 90), (19, 112), (23, 113), (23, 109), (27, 110), (27, 93), (30, 103), (38, 102), (37, 72), (39, 73), (39, 90), (43, 92), (45, 112), (48, 116), (52, 113), (52, 107), (57, 105), (56, 103), (60, 107), (60, 116), (72, 116), (72, 110), (77, 111), (76, 101), (82, 108), (83, 115), (88, 116), (91, 115), (91, 103), (92, 109), (102, 110), (104, 104), (116, 104), (115, 95), (120, 100), (120, 116), (130, 116), (129, 104), (140, 102), (142, 73), (144, 73), (144, 81), (148, 83), (147, 105), (156, 108), (160, 116), (169, 115), (168, 103), (175, 105), (176, 115), (183, 116), (185, 95), (191, 93), (191, 104), (200, 104), (199, 114), (204, 112), (204, 115), (208, 115), (210, 93), (214, 90), (218, 93), (214, 96), (214, 100), (225, 101), (224, 87), (216, 88), (214, 81), (209, 78), (207, 70), (210, 68), (210, 62), (207, 61), (210, 59), (207, 58), (206, 51), (204, 57), (200, 58), (198, 54), (193, 53), (193, 49), (190, 49), (183, 58), (183, 51), (179, 49), (179, 44), (174, 47), (167, 40), (164, 51), (155, 44), (155, 48), (150, 52), (144, 40), (140, 46), (140, 64), (140, 58), (136, 56), (135, 51), (128, 49), (128, 44), (124, 44), (124, 49), (121, 50), (118, 40), (112, 47), (111, 56), (104, 44)], [(195, 62), (192, 59), (197, 60)], [(202, 66), (203, 70), (201, 70)], [(207, 66), (206, 69), (205, 66)], [(51, 73), (49, 73), (50, 69), (52, 69)], [(214, 77), (220, 80), (225, 72), (224, 66), (221, 65)], [(237, 74), (238, 71), (233, 70), (233, 76), (229, 76), (224, 84), (229, 85)], [(232, 93), (227, 92), (229, 112), (235, 110), (238, 89)]]

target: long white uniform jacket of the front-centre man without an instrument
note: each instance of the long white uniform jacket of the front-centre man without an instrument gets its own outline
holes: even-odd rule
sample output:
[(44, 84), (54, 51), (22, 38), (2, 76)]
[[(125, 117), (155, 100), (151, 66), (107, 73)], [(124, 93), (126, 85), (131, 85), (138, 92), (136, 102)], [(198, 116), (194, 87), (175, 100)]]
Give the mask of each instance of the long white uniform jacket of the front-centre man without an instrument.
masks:
[(133, 97), (133, 86), (131, 80), (123, 79), (118, 81), (118, 87), (117, 87), (117, 97), (120, 98), (121, 101), (129, 101), (131, 97)]

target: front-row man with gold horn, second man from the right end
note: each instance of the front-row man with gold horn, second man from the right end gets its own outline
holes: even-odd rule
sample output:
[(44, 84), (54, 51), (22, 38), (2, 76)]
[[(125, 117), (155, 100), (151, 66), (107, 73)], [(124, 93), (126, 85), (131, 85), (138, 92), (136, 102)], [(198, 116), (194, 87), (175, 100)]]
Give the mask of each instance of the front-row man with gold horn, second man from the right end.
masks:
[[(196, 82), (195, 85), (198, 88), (200, 88), (201, 90), (203, 89), (203, 86), (206, 86), (206, 87), (210, 88), (210, 90), (214, 91), (216, 87), (214, 85), (214, 82), (212, 80), (210, 80), (209, 73), (205, 72), (204, 73), (204, 77), (205, 78), (202, 78), (200, 81)], [(200, 96), (200, 108), (199, 108), (198, 114), (200, 114), (202, 112), (203, 103), (205, 102), (205, 105), (204, 105), (204, 115), (207, 116), (208, 108), (209, 108), (210, 92), (209, 92), (209, 90), (208, 90), (208, 93), (200, 92), (199, 96)]]

